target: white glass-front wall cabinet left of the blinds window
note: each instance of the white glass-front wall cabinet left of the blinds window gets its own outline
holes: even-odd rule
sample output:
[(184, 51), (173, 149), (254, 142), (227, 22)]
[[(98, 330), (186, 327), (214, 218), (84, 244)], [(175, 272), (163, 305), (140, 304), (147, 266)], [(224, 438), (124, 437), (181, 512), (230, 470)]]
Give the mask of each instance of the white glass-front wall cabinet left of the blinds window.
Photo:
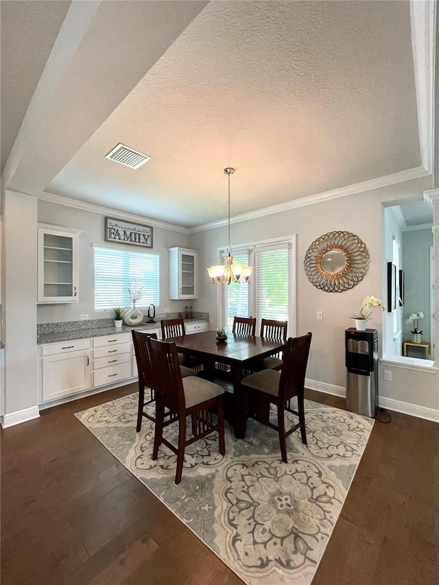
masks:
[(38, 224), (38, 302), (78, 302), (80, 233)]

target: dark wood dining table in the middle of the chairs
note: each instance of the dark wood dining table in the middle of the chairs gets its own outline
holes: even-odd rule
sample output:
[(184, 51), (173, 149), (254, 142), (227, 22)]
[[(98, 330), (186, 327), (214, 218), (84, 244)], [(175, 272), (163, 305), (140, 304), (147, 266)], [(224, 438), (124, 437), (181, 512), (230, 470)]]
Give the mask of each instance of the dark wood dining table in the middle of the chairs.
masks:
[(218, 342), (215, 331), (201, 331), (181, 337), (171, 337), (167, 341), (176, 344), (178, 353), (202, 358), (203, 374), (210, 379), (215, 377), (215, 362), (230, 366), (230, 379), (233, 383), (233, 426), (235, 437), (244, 438), (241, 424), (240, 383), (243, 370), (252, 370), (265, 357), (278, 353), (285, 347), (283, 339), (268, 339), (253, 335), (228, 334), (226, 342)]

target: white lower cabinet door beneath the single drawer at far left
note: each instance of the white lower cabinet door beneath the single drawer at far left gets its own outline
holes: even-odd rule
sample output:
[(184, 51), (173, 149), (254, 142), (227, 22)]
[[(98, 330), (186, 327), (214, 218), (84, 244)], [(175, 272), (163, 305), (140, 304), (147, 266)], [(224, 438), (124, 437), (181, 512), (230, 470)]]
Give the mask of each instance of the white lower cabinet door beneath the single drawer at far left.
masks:
[(43, 401), (91, 387), (89, 350), (43, 357)]

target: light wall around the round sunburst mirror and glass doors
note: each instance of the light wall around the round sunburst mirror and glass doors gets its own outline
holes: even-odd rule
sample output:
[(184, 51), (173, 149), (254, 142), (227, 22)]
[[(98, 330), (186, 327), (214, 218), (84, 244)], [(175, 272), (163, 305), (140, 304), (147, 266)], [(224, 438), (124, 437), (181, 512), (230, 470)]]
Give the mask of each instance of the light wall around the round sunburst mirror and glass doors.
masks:
[[(307, 369), (307, 379), (328, 391), (340, 392), (345, 387), (344, 330), (353, 326), (351, 315), (361, 308), (365, 296), (374, 295), (385, 299), (387, 283), (383, 280), (383, 242), (381, 237), (383, 202), (400, 202), (408, 198), (422, 199), (423, 191), (431, 188), (431, 178), (423, 178), (383, 187), (375, 191), (357, 193), (344, 198), (282, 211), (265, 217), (232, 224), (230, 239), (232, 248), (283, 235), (297, 235), (297, 334), (313, 332), (313, 342)], [(268, 200), (270, 195), (268, 194)], [(303, 260), (309, 245), (321, 235), (335, 231), (348, 231), (357, 235), (368, 248), (370, 266), (366, 276), (353, 289), (342, 293), (327, 293), (309, 283), (303, 268)], [(227, 228), (200, 231), (191, 235), (191, 248), (200, 250), (200, 302), (209, 311), (211, 325), (215, 326), (217, 310), (216, 285), (211, 284), (206, 268), (217, 263), (218, 248), (227, 243)], [(391, 259), (391, 258), (390, 258)], [(203, 276), (204, 275), (204, 276)], [(323, 311), (323, 320), (316, 319), (317, 311)], [(379, 331), (382, 355), (381, 311), (375, 311), (370, 326)], [(392, 366), (386, 366), (392, 371)], [(410, 403), (439, 409), (439, 377), (416, 372), (419, 387), (397, 383), (383, 383), (380, 372), (380, 394), (392, 400), (410, 397)]]

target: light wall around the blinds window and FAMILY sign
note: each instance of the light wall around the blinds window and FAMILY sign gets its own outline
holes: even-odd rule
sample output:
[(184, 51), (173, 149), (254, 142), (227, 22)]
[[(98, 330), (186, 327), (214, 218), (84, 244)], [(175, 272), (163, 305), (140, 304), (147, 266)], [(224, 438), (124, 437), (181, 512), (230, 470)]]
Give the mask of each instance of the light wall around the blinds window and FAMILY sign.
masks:
[[(117, 217), (117, 213), (111, 215)], [(38, 323), (51, 323), (61, 321), (78, 321), (81, 314), (88, 314), (90, 319), (102, 319), (112, 316), (112, 312), (106, 313), (95, 311), (94, 307), (94, 272), (93, 272), (93, 243), (105, 243), (105, 216), (90, 211), (58, 205), (51, 202), (38, 202), (38, 222), (41, 224), (50, 224), (62, 226), (65, 228), (75, 228), (82, 230), (79, 238), (79, 257), (80, 257), (80, 291), (79, 302), (68, 303), (64, 305), (38, 305)], [(145, 219), (145, 225), (149, 225)], [(108, 244), (106, 244), (108, 245)], [(114, 245), (117, 248), (132, 250), (132, 246), (120, 244)], [(189, 247), (189, 235), (187, 233), (165, 230), (163, 228), (153, 228), (153, 248), (148, 248), (147, 252), (160, 254), (160, 305), (156, 307), (157, 312), (163, 312), (167, 308), (169, 311), (183, 311), (187, 301), (169, 300), (169, 263), (168, 248), (180, 246)], [(199, 308), (200, 303), (196, 300), (191, 301), (194, 311), (204, 311)], [(139, 307), (142, 307), (140, 304)]]

